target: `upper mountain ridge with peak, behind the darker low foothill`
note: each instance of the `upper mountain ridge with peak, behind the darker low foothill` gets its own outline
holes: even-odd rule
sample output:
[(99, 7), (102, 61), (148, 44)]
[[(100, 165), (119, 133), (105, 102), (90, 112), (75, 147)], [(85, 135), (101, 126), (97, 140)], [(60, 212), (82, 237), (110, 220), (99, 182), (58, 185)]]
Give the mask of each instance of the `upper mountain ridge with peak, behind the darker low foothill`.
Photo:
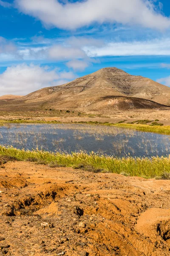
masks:
[[(95, 89), (98, 89), (94, 92)], [(133, 76), (116, 67), (103, 68), (94, 73), (82, 76), (74, 81), (56, 87), (45, 87), (24, 96), (23, 99), (38, 99), (65, 89), (68, 96), (77, 93), (90, 93), (105, 96), (130, 96), (149, 99), (163, 105), (170, 105), (170, 88), (142, 76)], [(73, 91), (71, 92), (71, 89)], [(63, 94), (63, 93), (62, 93)], [(88, 96), (88, 93), (85, 93)], [(56, 95), (57, 96), (57, 95)]]

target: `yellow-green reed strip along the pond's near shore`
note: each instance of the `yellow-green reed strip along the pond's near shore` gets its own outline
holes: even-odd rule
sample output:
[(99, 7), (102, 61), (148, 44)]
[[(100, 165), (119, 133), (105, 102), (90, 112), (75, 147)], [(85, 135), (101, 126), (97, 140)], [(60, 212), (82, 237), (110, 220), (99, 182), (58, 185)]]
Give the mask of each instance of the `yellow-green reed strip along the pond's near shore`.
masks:
[(61, 154), (47, 151), (24, 151), (13, 147), (0, 146), (0, 155), (11, 157), (19, 161), (33, 161), (48, 164), (48, 166), (91, 166), (94, 169), (102, 169), (105, 172), (124, 173), (127, 176), (140, 176), (146, 178), (162, 177), (164, 173), (170, 173), (170, 157), (127, 157), (115, 158), (110, 156), (99, 156), (86, 154), (84, 152)]

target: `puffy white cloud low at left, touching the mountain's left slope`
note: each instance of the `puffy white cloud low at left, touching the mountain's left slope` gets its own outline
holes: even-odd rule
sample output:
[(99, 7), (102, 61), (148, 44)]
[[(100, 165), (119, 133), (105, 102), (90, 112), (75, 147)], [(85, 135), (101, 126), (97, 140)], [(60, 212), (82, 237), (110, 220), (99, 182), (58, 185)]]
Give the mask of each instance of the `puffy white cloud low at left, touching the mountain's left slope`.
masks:
[(19, 64), (8, 67), (0, 74), (0, 94), (26, 95), (43, 87), (54, 86), (75, 78), (72, 72), (59, 72), (56, 69), (36, 65)]

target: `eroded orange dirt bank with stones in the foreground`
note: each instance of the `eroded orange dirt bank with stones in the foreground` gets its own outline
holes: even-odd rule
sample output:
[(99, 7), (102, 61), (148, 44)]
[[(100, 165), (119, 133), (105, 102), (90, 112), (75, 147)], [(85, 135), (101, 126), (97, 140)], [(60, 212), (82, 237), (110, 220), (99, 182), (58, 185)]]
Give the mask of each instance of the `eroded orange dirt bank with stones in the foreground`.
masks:
[(170, 181), (1, 167), (0, 255), (170, 255)]

